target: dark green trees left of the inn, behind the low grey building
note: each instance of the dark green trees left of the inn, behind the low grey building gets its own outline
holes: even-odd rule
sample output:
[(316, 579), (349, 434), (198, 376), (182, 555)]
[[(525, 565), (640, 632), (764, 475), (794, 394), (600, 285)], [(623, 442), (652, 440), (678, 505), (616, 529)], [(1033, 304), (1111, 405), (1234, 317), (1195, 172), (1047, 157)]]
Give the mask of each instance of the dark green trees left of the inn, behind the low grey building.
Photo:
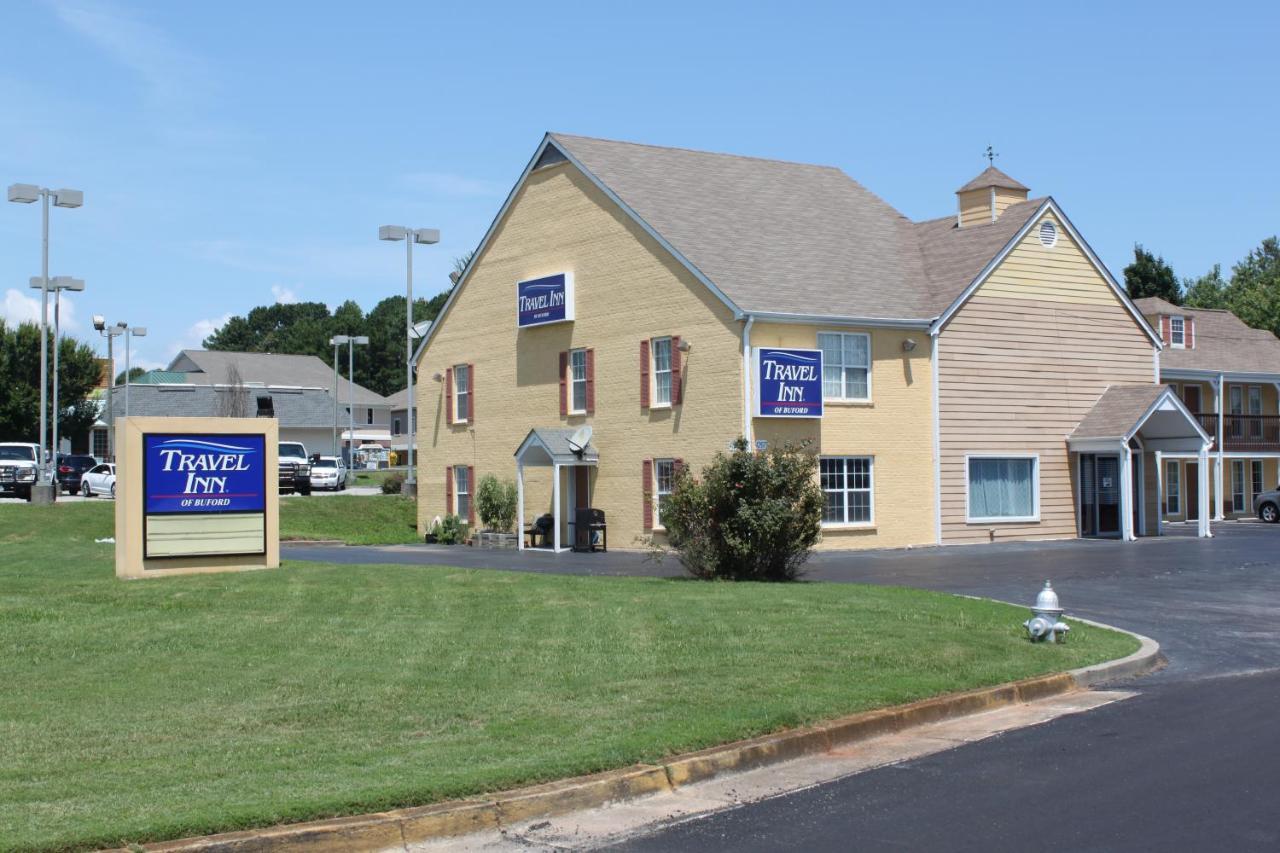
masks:
[[(470, 259), (471, 254), (456, 259), (449, 278), (456, 280)], [(434, 320), (448, 297), (449, 289), (431, 298), (415, 298), (413, 323)], [(367, 346), (356, 347), (353, 382), (384, 396), (404, 387), (403, 296), (389, 296), (367, 314), (352, 300), (333, 311), (324, 302), (261, 305), (229, 319), (205, 338), (204, 346), (233, 352), (314, 355), (328, 364), (333, 360), (329, 339), (335, 334), (369, 337)], [(347, 375), (346, 347), (338, 357), (338, 371)]]

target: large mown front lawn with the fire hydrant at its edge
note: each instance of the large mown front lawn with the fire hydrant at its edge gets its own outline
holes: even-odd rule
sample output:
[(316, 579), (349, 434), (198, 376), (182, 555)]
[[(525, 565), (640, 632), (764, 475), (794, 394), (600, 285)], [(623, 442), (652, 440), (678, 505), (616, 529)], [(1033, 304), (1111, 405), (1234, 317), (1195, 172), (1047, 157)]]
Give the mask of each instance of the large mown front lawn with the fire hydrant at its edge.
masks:
[[(337, 498), (310, 501), (335, 505)], [(0, 506), (0, 847), (421, 804), (1126, 654), (849, 584), (412, 566), (118, 581), (108, 502)]]

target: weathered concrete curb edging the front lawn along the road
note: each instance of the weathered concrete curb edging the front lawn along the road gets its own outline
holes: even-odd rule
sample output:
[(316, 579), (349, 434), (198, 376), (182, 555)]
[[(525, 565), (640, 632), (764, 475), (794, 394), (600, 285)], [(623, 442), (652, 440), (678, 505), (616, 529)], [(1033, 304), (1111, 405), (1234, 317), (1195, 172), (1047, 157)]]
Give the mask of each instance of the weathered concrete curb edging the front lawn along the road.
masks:
[(1151, 672), (1164, 663), (1160, 644), (1148, 637), (1085, 619), (1071, 619), (1097, 628), (1130, 634), (1142, 646), (1128, 657), (1094, 666), (964, 693), (951, 693), (892, 708), (865, 711), (831, 722), (790, 729), (675, 756), (662, 765), (635, 765), (590, 776), (576, 776), (518, 788), (502, 792), (495, 797), (458, 799), (434, 806), (224, 833), (122, 849), (141, 849), (155, 853), (259, 853), (262, 850), (273, 853), (278, 850), (306, 850), (307, 853), (333, 850), (337, 853), (339, 850), (380, 850), (404, 847), (671, 792), (726, 772), (822, 754), (836, 747), (927, 722), (1070, 693), (1102, 681), (1134, 678)]

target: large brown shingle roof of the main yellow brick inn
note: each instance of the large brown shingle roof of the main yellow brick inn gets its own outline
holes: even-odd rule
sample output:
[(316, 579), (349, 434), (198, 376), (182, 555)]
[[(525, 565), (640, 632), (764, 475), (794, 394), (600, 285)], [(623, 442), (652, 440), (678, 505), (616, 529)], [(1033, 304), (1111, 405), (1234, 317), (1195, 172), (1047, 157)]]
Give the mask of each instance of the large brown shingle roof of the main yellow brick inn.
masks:
[(1042, 204), (960, 229), (954, 216), (913, 223), (833, 167), (549, 140), (749, 313), (937, 318)]

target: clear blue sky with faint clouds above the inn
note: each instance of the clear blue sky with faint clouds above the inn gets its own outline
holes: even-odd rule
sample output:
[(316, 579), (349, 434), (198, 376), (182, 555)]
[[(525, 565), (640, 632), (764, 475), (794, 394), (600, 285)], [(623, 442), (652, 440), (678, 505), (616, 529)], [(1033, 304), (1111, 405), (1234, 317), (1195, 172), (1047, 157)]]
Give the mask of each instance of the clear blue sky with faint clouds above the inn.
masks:
[[(1280, 5), (125, 3), (0, 6), (0, 183), (52, 213), (64, 313), (146, 325), (138, 364), (282, 300), (447, 284), (544, 131), (837, 165), (915, 219), (987, 143), (1117, 275), (1280, 232)], [(33, 316), (35, 206), (0, 206), (0, 305)]]

